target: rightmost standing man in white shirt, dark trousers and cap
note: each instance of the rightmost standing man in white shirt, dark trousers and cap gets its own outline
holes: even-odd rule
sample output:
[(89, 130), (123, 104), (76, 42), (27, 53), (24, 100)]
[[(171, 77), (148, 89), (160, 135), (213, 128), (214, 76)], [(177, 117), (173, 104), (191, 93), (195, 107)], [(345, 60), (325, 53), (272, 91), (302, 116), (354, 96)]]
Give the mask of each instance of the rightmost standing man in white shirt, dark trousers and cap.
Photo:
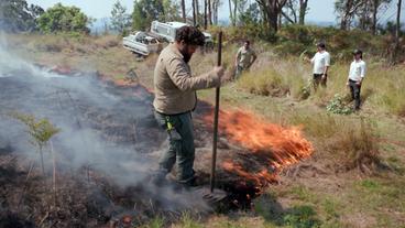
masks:
[(347, 86), (350, 88), (351, 98), (354, 100), (354, 110), (359, 110), (361, 102), (360, 89), (365, 76), (365, 63), (361, 50), (354, 50), (353, 55), (354, 61), (350, 64)]

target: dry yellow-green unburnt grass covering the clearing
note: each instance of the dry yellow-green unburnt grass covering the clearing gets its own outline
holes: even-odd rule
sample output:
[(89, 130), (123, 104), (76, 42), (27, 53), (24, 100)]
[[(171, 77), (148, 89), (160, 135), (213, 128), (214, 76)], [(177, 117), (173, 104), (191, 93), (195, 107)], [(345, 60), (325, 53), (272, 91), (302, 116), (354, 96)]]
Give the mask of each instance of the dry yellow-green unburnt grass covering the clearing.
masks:
[[(39, 50), (36, 45), (41, 42), (61, 51)], [(121, 78), (129, 69), (134, 68), (141, 82), (151, 87), (156, 56), (138, 63), (131, 53), (116, 42), (119, 41), (113, 36), (91, 40), (85, 37), (81, 41), (75, 37), (53, 36), (13, 39), (17, 48), (20, 45), (28, 46), (32, 51), (31, 55), (37, 57), (39, 62), (50, 61), (56, 64), (90, 67), (113, 78)], [(225, 48), (222, 59), (228, 68), (233, 63), (237, 47), (236, 44), (230, 44)], [(360, 115), (330, 115), (325, 108), (336, 94), (342, 96), (348, 94), (346, 79), (350, 61), (335, 62), (327, 89), (314, 93), (308, 89), (310, 64), (295, 56), (280, 57), (267, 47), (258, 46), (256, 51), (259, 59), (252, 69), (240, 80), (229, 84), (221, 90), (221, 106), (250, 109), (282, 126), (302, 126), (305, 135), (315, 144), (314, 161), (320, 166), (338, 167), (346, 172), (337, 175), (315, 174), (315, 177), (297, 177), (293, 185), (282, 183), (280, 186), (272, 186), (277, 193), (277, 203), (287, 209), (294, 208), (292, 211), (297, 211), (285, 214), (291, 216), (284, 224), (266, 220), (265, 215), (255, 210), (234, 216), (214, 216), (207, 221), (198, 219), (196, 221), (184, 216), (173, 227), (288, 227), (291, 222), (299, 220), (300, 215), (311, 210), (308, 205), (318, 214), (316, 217), (320, 219), (320, 227), (357, 227), (361, 225), (363, 218), (373, 219), (366, 222), (365, 227), (404, 226), (405, 222), (401, 217), (405, 215), (404, 207), (401, 207), (403, 203), (397, 200), (405, 196), (403, 175), (379, 172), (377, 176), (369, 177), (370, 183), (375, 183), (370, 184), (359, 181), (355, 176), (365, 175), (353, 170), (359, 169), (363, 173), (369, 173), (376, 166), (375, 164), (385, 161), (395, 164), (397, 167), (395, 170), (405, 170), (403, 153), (399, 151), (404, 148), (399, 145), (393, 148), (390, 144), (391, 141), (398, 144), (404, 142), (402, 135), (405, 135), (405, 128), (401, 123), (401, 118), (405, 115), (403, 89), (405, 66), (388, 68), (383, 63), (365, 56), (369, 70), (362, 88), (364, 100), (360, 112), (364, 116), (362, 119)], [(197, 53), (190, 64), (195, 74), (205, 73), (216, 64), (216, 53), (205, 55)], [(277, 90), (283, 93), (275, 93)], [(303, 96), (308, 90), (309, 97)], [(199, 98), (214, 100), (214, 91), (200, 91)], [(381, 142), (379, 134), (383, 134), (387, 142)], [(382, 177), (379, 177), (380, 175)], [(298, 183), (311, 187), (300, 187)], [(274, 205), (263, 204), (267, 213), (272, 213), (269, 209), (273, 208), (272, 206)], [(166, 226), (164, 220), (156, 218), (146, 227)]]

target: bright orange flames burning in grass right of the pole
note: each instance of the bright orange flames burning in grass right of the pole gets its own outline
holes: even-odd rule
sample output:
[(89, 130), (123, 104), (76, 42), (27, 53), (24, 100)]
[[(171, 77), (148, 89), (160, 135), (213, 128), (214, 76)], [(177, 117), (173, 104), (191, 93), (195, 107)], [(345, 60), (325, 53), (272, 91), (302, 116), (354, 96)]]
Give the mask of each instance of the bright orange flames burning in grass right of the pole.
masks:
[[(212, 115), (205, 117), (205, 120), (212, 123)], [(310, 156), (314, 152), (311, 143), (302, 135), (299, 127), (284, 128), (247, 111), (220, 111), (219, 131), (230, 141), (249, 149), (252, 155), (264, 163), (260, 172), (250, 172), (251, 167), (229, 160), (221, 164), (222, 169), (260, 186), (275, 181), (275, 172)]]

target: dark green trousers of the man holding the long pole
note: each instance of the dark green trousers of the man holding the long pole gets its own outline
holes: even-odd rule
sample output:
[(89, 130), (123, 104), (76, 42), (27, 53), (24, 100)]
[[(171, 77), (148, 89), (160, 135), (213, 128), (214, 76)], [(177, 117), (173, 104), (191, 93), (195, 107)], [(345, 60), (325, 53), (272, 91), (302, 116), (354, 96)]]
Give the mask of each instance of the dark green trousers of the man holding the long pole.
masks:
[[(169, 145), (160, 160), (160, 172), (167, 174), (177, 162), (177, 181), (190, 184), (194, 181), (194, 127), (191, 112), (164, 115), (155, 111), (158, 124), (167, 131)], [(172, 128), (169, 128), (172, 126)]]

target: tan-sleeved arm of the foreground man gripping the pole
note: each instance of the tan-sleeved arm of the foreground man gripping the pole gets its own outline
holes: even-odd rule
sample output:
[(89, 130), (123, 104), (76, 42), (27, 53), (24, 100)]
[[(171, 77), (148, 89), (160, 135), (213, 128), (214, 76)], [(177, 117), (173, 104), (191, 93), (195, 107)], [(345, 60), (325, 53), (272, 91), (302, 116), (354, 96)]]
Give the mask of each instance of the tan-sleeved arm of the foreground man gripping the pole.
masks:
[(209, 73), (191, 77), (187, 70), (187, 65), (180, 58), (173, 58), (168, 62), (166, 70), (172, 82), (182, 91), (212, 88), (220, 85), (223, 74), (222, 67), (216, 67)]

